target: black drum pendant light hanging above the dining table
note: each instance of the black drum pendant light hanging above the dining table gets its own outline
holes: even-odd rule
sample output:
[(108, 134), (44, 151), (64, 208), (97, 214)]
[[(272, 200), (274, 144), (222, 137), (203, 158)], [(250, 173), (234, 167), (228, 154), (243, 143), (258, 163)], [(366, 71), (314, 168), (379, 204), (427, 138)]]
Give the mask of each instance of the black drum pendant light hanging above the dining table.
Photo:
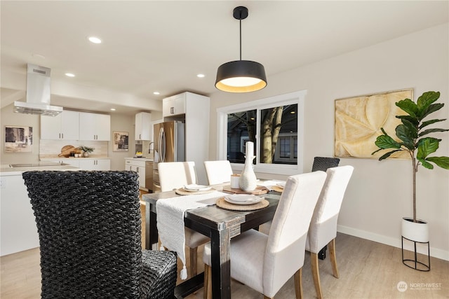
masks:
[(220, 65), (215, 87), (225, 92), (253, 92), (267, 86), (265, 69), (259, 62), (241, 60), (241, 20), (248, 17), (248, 8), (234, 8), (234, 18), (240, 20), (240, 60)]

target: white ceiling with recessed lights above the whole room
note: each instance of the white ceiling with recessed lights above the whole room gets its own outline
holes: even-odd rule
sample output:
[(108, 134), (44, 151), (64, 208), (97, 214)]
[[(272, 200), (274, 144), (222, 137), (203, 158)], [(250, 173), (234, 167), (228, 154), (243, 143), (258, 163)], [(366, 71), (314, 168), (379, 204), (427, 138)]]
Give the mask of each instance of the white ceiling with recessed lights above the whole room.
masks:
[(217, 67), (239, 60), (236, 6), (249, 10), (242, 59), (264, 64), (267, 88), (283, 71), (449, 22), (449, 1), (2, 0), (1, 107), (25, 101), (27, 63), (51, 68), (52, 104), (72, 109), (160, 111), (163, 97), (217, 92)]

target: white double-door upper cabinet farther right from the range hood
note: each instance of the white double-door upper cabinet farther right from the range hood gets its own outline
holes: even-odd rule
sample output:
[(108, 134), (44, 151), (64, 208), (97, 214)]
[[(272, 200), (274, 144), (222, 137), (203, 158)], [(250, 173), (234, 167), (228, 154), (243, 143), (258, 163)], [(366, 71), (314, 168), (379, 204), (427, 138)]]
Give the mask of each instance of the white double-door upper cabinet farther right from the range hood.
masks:
[(111, 140), (111, 116), (80, 112), (79, 140)]

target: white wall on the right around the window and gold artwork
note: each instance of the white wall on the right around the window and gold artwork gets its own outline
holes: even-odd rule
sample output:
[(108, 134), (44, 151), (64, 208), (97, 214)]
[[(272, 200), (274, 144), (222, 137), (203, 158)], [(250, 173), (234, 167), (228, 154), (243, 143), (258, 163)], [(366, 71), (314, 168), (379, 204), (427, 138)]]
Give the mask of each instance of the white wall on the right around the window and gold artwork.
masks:
[[(435, 118), (449, 118), (449, 24), (379, 43), (329, 60), (269, 76), (267, 88), (244, 95), (210, 96), (210, 151), (217, 153), (217, 108), (307, 90), (304, 127), (304, 172), (314, 156), (333, 156), (334, 101), (344, 97), (413, 88), (441, 92), (446, 105)], [(298, 53), (301, 55), (301, 53)], [(263, 64), (263, 62), (261, 62)], [(267, 69), (269, 71), (269, 69)], [(449, 121), (438, 127), (449, 128)], [(449, 155), (449, 133), (437, 155)], [(401, 246), (401, 218), (412, 216), (412, 172), (408, 160), (344, 158), (355, 167), (339, 218), (339, 230)], [(421, 168), (417, 174), (417, 216), (429, 222), (431, 256), (449, 260), (449, 171)]]

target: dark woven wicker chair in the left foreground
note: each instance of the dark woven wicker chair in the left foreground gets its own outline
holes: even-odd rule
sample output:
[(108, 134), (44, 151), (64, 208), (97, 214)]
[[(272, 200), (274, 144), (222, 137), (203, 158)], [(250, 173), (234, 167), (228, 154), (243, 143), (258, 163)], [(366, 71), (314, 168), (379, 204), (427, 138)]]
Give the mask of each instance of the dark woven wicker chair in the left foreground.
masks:
[(176, 254), (142, 251), (138, 174), (32, 171), (41, 298), (173, 298)]

